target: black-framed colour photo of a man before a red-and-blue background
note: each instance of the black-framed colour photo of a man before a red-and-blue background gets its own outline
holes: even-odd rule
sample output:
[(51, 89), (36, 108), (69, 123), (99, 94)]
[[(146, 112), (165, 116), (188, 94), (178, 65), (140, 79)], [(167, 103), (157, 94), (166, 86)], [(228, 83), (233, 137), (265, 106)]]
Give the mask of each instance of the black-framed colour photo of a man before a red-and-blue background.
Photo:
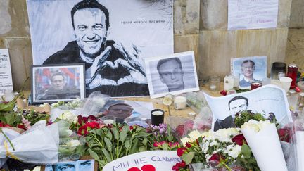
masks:
[(32, 103), (72, 101), (84, 97), (84, 64), (32, 66)]

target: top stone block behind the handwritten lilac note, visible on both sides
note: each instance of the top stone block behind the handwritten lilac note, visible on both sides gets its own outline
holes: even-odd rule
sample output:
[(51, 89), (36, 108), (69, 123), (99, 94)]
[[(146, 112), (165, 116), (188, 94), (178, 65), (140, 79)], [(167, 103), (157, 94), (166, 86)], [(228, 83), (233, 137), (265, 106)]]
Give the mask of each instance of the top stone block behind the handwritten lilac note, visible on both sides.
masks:
[[(277, 28), (286, 28), (289, 26), (290, 11), (291, 0), (279, 0)], [(200, 20), (200, 30), (227, 30), (228, 1), (202, 0)]]

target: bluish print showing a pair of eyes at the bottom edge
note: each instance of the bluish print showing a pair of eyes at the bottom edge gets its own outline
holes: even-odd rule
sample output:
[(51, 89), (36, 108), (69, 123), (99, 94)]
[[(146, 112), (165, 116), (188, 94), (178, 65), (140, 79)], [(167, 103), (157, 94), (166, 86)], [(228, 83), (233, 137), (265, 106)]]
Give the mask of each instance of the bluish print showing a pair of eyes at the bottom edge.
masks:
[(77, 160), (73, 162), (46, 165), (45, 171), (94, 171), (94, 160)]

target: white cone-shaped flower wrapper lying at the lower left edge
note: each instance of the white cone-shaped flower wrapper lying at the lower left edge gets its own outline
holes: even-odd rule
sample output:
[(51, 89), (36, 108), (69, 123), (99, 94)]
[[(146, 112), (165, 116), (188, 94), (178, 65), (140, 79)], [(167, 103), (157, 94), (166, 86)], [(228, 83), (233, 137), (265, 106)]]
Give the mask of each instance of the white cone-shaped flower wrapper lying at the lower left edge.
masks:
[[(45, 126), (37, 122), (27, 132), (11, 139), (11, 144), (0, 146), (0, 158), (17, 158), (25, 163), (53, 164), (58, 163), (58, 125)], [(45, 123), (45, 121), (44, 121)]]

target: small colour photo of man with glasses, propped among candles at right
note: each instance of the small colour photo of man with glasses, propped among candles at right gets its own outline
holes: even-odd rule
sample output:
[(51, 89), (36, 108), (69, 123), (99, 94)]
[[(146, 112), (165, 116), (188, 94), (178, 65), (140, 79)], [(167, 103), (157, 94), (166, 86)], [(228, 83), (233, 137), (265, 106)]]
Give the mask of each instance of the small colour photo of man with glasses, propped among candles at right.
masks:
[(239, 87), (250, 89), (251, 82), (262, 82), (267, 77), (267, 57), (253, 56), (246, 58), (232, 58), (232, 73), (239, 77)]

